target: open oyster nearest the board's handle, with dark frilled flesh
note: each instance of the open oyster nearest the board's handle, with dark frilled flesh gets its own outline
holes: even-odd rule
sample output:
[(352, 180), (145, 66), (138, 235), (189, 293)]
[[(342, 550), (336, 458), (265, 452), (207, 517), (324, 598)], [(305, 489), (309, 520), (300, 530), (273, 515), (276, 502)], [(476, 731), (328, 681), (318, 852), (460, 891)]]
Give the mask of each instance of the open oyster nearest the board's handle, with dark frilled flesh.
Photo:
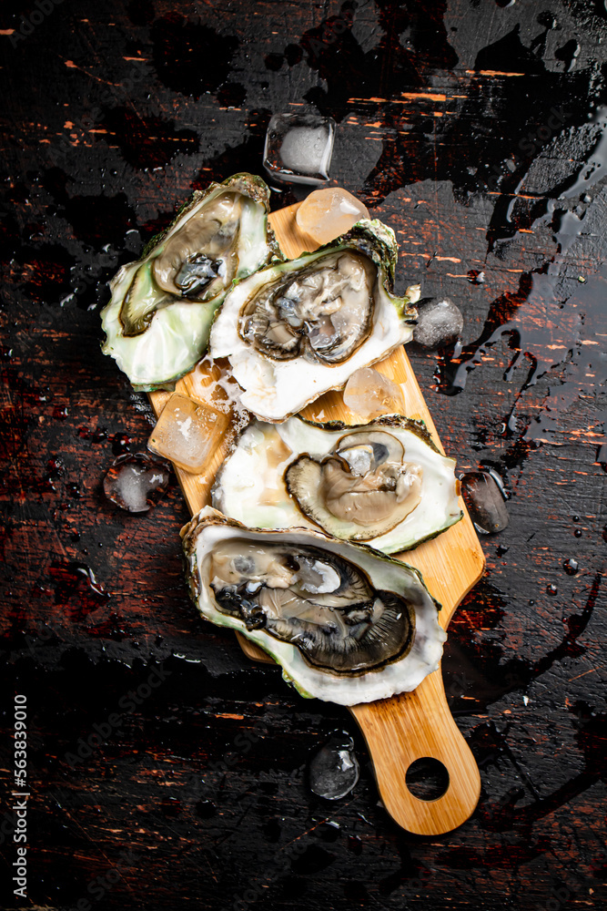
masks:
[(303, 696), (341, 705), (414, 690), (446, 639), (420, 572), (305, 528), (248, 528), (211, 507), (182, 531), (206, 619), (243, 633)]

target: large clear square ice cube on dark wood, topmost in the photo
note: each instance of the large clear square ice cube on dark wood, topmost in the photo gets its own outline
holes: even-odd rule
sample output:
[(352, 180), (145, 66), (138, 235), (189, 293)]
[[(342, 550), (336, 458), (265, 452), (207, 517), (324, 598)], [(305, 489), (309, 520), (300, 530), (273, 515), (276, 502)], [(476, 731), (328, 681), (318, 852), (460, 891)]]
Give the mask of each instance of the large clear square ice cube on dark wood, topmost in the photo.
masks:
[(335, 121), (314, 114), (275, 114), (269, 121), (264, 168), (285, 183), (318, 185), (329, 179)]

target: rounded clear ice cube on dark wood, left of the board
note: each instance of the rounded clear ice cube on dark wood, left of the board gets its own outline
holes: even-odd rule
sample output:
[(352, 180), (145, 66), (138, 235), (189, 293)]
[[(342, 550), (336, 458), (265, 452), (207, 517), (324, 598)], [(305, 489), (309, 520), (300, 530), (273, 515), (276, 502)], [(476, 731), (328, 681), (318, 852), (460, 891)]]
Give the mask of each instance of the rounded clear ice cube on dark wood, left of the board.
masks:
[(169, 468), (146, 453), (119, 455), (107, 472), (104, 494), (127, 512), (147, 512), (167, 490)]

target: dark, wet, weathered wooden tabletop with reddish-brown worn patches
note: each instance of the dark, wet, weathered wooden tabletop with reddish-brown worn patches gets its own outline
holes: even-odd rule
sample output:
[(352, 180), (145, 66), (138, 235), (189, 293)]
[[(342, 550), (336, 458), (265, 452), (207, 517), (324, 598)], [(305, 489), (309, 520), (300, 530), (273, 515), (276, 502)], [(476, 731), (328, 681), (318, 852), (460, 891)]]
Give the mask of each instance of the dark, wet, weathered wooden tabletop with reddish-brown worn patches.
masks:
[[(6, 0), (0, 20), (0, 758), (10, 786), (24, 693), (32, 788), (28, 898), (3, 815), (0, 905), (604, 906), (602, 170), (567, 196), (602, 154), (602, 2)], [(410, 356), (460, 470), (511, 493), (450, 626), (483, 788), (442, 838), (390, 822), (347, 711), (197, 619), (177, 485), (143, 516), (101, 490), (151, 425), (99, 351), (107, 279), (192, 188), (259, 172), (268, 118), (293, 110), (338, 121), (332, 176), (396, 230), (400, 289), (464, 312), (457, 358)], [(330, 804), (305, 767), (335, 728), (361, 777)]]

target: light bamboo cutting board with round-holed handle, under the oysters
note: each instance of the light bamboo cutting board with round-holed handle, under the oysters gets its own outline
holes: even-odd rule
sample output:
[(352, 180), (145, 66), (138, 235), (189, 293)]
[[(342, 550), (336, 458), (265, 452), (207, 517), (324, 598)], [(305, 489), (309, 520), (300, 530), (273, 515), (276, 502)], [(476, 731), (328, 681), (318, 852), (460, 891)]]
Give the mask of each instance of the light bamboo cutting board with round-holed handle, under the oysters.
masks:
[[(274, 212), (270, 216), (282, 251), (294, 258), (304, 250), (315, 250), (318, 244), (298, 230), (295, 212), (298, 205)], [(177, 391), (202, 402), (209, 401), (209, 389), (225, 365), (206, 362), (198, 365), (177, 383)], [(424, 402), (420, 386), (402, 345), (381, 363), (380, 373), (404, 384), (405, 415), (425, 422), (434, 442), (439, 435)], [(149, 398), (156, 415), (160, 415), (170, 393), (151, 393)], [(307, 418), (323, 421), (340, 420), (358, 424), (359, 417), (343, 403), (341, 393), (330, 392), (308, 405)], [(228, 454), (234, 432), (219, 434), (213, 455), (205, 470), (191, 475), (176, 467), (179, 484), (192, 514), (210, 503), (210, 488), (218, 467)], [(440, 601), (440, 624), (446, 629), (460, 600), (481, 578), (484, 556), (463, 501), (463, 519), (439, 537), (399, 556), (421, 570), (432, 595)], [(238, 640), (253, 660), (271, 661), (245, 637)], [(473, 813), (481, 793), (481, 777), (474, 757), (453, 721), (442, 682), (440, 668), (420, 683), (417, 690), (391, 699), (362, 703), (350, 710), (365, 737), (377, 778), (379, 795), (389, 814), (409, 832), (439, 835), (450, 832)], [(415, 797), (405, 781), (411, 763), (418, 759), (435, 759), (449, 773), (449, 785), (437, 800)]]

